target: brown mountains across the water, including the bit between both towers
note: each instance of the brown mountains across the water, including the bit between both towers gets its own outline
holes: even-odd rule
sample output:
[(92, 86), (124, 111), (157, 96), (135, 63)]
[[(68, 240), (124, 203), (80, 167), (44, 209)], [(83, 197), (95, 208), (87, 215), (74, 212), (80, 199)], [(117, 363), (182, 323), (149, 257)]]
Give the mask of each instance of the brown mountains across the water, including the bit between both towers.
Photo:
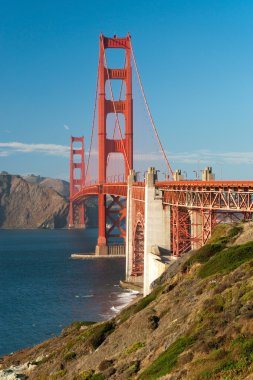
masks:
[[(69, 218), (69, 183), (40, 176), (0, 173), (0, 228), (64, 228)], [(87, 226), (98, 222), (97, 200), (87, 205)]]

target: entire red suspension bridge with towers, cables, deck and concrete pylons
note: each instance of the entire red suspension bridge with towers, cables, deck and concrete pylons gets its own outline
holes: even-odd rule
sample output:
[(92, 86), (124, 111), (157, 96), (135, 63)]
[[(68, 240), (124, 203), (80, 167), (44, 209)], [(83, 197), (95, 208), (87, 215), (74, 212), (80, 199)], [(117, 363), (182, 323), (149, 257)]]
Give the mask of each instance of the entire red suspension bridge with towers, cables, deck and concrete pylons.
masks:
[[(251, 220), (253, 181), (215, 181), (210, 167), (203, 171), (202, 180), (185, 180), (180, 172), (173, 173), (149, 109), (130, 35), (118, 38), (101, 34), (99, 42), (96, 96), (86, 165), (84, 138), (71, 137), (69, 225), (85, 225), (85, 201), (96, 196), (96, 254), (110, 254), (111, 247), (121, 240), (127, 256), (127, 278), (141, 282), (145, 272), (150, 272), (145, 256), (152, 254), (152, 247), (161, 247), (176, 258), (205, 244), (217, 223)], [(108, 49), (124, 51), (123, 68), (108, 67)], [(166, 165), (165, 181), (158, 181), (153, 166), (146, 172), (144, 181), (140, 181), (134, 171), (132, 66)], [(121, 81), (119, 99), (114, 97), (114, 81)], [(97, 108), (98, 178), (92, 182), (88, 178), (95, 156), (92, 147)], [(109, 136), (110, 114), (114, 115), (115, 123)], [(143, 139), (145, 143), (145, 136)], [(113, 173), (113, 169), (109, 173), (112, 155), (123, 157), (124, 174)], [(147, 276), (150, 283), (155, 274)]]

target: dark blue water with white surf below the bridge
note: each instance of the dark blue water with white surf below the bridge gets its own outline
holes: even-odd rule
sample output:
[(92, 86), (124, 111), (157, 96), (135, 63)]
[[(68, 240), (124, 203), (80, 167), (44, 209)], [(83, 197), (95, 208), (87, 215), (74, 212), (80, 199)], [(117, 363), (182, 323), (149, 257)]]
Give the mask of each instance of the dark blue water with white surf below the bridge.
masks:
[(101, 321), (134, 297), (118, 284), (125, 261), (71, 260), (94, 252), (97, 229), (0, 230), (0, 355), (37, 344), (73, 321)]

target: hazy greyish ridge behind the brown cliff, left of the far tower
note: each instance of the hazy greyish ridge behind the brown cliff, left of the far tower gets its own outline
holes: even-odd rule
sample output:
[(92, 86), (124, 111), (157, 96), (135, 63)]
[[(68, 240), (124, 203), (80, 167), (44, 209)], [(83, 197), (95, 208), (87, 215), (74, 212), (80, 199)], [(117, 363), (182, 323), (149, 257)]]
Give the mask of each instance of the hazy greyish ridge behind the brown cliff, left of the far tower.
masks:
[(28, 183), (34, 183), (47, 189), (53, 189), (63, 197), (69, 197), (69, 182), (62, 179), (36, 176), (34, 174), (22, 177)]

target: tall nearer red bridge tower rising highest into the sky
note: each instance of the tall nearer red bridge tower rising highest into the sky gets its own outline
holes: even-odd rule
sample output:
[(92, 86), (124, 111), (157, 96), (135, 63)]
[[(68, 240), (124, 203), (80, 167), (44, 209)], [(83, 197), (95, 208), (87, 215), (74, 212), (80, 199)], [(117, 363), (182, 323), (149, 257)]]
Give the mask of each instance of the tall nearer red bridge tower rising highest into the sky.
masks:
[[(124, 49), (125, 67), (108, 68), (105, 56), (106, 49)], [(126, 96), (124, 100), (115, 100), (112, 94), (111, 81), (124, 80)], [(105, 85), (108, 81), (111, 89), (111, 100), (106, 99)], [(125, 38), (105, 37), (100, 34), (100, 55), (99, 55), (99, 101), (98, 101), (98, 148), (99, 148), (99, 184), (106, 182), (107, 158), (110, 153), (121, 153), (125, 163), (125, 178), (128, 177), (133, 168), (133, 99), (132, 99), (132, 68), (131, 68), (131, 37), (128, 34)], [(114, 113), (118, 123), (118, 114), (124, 115), (125, 133), (120, 139), (107, 138), (107, 115)], [(119, 123), (118, 123), (119, 128)], [(109, 202), (109, 204), (108, 204)], [(118, 208), (118, 211), (116, 210)], [(107, 219), (110, 227), (107, 229)], [(98, 195), (98, 241), (96, 254), (104, 255), (108, 253), (108, 243), (110, 238), (125, 238), (125, 228), (122, 224), (125, 220), (125, 205), (120, 197)]]

